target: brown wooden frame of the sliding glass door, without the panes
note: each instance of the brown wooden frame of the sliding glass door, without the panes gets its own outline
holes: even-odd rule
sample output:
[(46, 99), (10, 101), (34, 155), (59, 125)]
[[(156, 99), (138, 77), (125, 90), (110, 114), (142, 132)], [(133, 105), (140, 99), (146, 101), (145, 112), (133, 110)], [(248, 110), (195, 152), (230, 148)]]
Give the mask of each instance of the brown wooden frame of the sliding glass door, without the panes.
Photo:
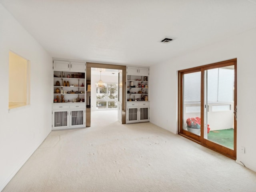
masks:
[[(183, 78), (182, 76), (184, 74), (193, 73), (193, 72), (201, 72), (201, 122), (204, 122), (204, 71), (214, 68), (220, 68), (225, 66), (231, 66), (234, 65), (234, 109), (237, 105), (237, 59), (231, 59), (226, 60), (222, 62), (217, 62), (213, 64), (208, 64), (204, 66), (198, 66), (190, 69), (180, 70), (178, 71), (178, 134), (181, 136), (184, 136), (198, 144), (201, 144), (207, 148), (210, 148), (216, 152), (219, 152), (221, 154), (224, 154), (225, 156), (228, 156), (234, 160), (236, 160), (236, 119), (234, 119), (234, 150), (231, 150), (229, 148), (226, 148), (224, 146), (221, 146), (219, 144), (216, 144), (214, 142), (211, 142), (210, 140), (207, 140), (204, 138), (204, 129), (201, 129), (200, 136), (196, 134), (192, 134), (186, 130), (183, 130), (182, 126), (182, 116), (183, 116)], [(233, 110), (234, 110), (233, 109)]]

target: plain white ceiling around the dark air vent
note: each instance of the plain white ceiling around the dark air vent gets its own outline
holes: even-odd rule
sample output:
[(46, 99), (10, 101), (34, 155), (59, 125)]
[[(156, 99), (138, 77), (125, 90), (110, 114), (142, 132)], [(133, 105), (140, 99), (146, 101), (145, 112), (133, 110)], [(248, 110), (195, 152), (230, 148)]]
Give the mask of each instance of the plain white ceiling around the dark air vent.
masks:
[(150, 66), (256, 27), (256, 0), (0, 3), (52, 57), (107, 64)]

